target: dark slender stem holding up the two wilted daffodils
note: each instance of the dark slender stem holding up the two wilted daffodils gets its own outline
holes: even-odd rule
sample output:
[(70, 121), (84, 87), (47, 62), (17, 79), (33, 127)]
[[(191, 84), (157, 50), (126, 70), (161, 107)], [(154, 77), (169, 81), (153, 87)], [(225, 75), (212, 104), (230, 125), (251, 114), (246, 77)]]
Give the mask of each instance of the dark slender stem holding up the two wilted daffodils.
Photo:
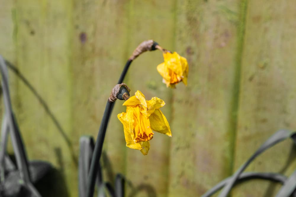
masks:
[[(126, 73), (128, 71), (129, 66), (131, 65), (131, 62), (133, 60), (128, 60), (126, 62), (126, 65), (124, 66), (124, 69), (120, 75), (120, 78), (118, 80), (118, 84), (121, 84), (123, 82), (124, 77), (126, 76)], [(110, 119), (110, 115), (112, 112), (114, 106), (114, 102), (110, 103), (107, 101), (106, 108), (104, 111), (104, 115), (102, 118), (101, 126), (99, 128), (99, 133), (96, 138), (96, 144), (94, 147), (94, 153), (91, 158), (91, 166), (89, 169), (89, 175), (88, 175), (88, 181), (87, 181), (87, 190), (86, 190), (86, 196), (87, 197), (93, 197), (94, 196), (94, 185), (96, 183), (96, 174), (99, 167), (99, 161), (102, 154), (102, 147), (104, 143), (104, 138), (106, 134), (107, 125)]]

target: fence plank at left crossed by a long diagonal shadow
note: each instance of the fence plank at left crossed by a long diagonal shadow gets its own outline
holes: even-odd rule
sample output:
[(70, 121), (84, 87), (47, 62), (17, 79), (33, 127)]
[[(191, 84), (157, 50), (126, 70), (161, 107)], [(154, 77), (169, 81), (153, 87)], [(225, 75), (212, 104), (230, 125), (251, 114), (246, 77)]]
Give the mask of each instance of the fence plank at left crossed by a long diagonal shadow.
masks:
[(78, 139), (71, 138), (71, 12), (70, 0), (17, 1), (17, 64), (41, 100), (18, 80), (16, 117), (29, 158), (56, 167), (43, 196), (78, 195), (72, 189), (77, 188), (72, 145)]

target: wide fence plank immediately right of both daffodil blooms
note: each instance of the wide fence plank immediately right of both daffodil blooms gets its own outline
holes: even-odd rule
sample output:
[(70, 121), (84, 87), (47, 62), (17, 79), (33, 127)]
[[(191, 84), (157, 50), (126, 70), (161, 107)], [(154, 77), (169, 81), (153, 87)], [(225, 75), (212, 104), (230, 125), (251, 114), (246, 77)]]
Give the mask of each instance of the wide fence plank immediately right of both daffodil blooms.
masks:
[(200, 196), (230, 175), (239, 1), (178, 1), (176, 50), (188, 86), (173, 95), (169, 196)]

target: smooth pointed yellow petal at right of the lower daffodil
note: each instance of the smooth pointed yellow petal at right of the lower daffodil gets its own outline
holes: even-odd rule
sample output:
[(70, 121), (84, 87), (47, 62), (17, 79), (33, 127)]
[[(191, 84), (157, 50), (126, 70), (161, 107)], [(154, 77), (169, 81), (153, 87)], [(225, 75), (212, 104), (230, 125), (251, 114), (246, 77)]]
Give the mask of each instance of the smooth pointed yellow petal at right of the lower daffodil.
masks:
[(154, 113), (149, 116), (149, 121), (153, 131), (166, 134), (170, 137), (172, 136), (170, 125), (168, 124), (165, 115), (163, 115), (159, 109), (155, 110)]

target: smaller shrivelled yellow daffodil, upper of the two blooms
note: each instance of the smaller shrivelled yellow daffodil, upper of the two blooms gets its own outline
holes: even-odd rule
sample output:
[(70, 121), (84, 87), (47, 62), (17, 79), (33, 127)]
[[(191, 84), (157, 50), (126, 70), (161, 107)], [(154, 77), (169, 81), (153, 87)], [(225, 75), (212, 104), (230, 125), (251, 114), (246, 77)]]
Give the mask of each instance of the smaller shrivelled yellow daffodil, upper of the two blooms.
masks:
[(178, 53), (163, 53), (164, 62), (157, 66), (157, 71), (163, 77), (167, 87), (175, 87), (179, 82), (187, 85), (188, 64), (184, 57)]

